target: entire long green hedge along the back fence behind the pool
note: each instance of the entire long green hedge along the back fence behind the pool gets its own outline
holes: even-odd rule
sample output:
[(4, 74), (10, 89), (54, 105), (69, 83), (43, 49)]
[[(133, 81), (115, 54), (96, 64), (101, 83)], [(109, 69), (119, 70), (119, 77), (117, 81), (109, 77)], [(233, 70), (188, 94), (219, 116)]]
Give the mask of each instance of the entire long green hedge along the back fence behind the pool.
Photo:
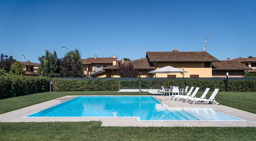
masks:
[[(24, 80), (19, 81), (22, 82)], [(141, 89), (161, 89), (161, 86), (164, 86), (164, 88), (170, 88), (170, 86), (178, 86), (179, 88), (182, 88), (182, 83), (182, 79), (163, 79), (161, 81), (153, 80), (152, 82), (141, 79)], [(228, 83), (229, 91), (256, 91), (256, 81), (254, 80), (229, 80)], [(119, 91), (120, 86), (121, 88), (127, 87), (129, 89), (139, 89), (139, 80), (122, 80), (119, 84), (119, 81), (117, 79), (104, 81), (101, 81), (101, 79), (97, 79), (94, 81), (92, 81), (91, 79), (87, 81), (78, 81), (75, 79), (66, 80), (59, 78), (52, 79), (53, 91)], [(184, 88), (186, 86), (189, 86), (188, 89), (190, 89), (191, 87), (200, 87), (199, 91), (205, 91), (206, 88), (210, 88), (210, 91), (214, 91), (214, 89), (216, 88), (220, 89), (219, 91), (226, 91), (226, 80), (211, 81), (207, 79), (184, 79)]]

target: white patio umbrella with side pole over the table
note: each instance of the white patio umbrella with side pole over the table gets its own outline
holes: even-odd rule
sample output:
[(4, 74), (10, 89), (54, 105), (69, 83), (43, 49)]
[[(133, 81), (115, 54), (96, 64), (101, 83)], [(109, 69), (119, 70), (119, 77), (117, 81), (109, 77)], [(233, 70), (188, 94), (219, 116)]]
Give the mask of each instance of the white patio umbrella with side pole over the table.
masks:
[[(184, 69), (184, 67), (183, 67)], [(148, 72), (148, 73), (155, 73), (155, 74), (170, 74), (170, 73), (182, 73), (183, 74), (183, 81), (182, 81), (182, 87), (184, 88), (184, 73), (188, 73), (187, 71), (172, 67), (172, 66), (166, 66), (159, 69), (156, 69), (154, 71)]]

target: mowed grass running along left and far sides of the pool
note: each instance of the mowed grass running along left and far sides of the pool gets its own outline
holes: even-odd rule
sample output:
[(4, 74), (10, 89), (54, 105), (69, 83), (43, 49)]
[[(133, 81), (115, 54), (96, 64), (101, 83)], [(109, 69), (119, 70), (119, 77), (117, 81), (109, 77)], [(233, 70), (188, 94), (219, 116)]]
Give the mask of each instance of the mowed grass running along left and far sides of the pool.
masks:
[(116, 92), (116, 91), (75, 91), (75, 92), (44, 92), (18, 97), (0, 99), (0, 114), (53, 100), (66, 95), (152, 95), (148, 92)]

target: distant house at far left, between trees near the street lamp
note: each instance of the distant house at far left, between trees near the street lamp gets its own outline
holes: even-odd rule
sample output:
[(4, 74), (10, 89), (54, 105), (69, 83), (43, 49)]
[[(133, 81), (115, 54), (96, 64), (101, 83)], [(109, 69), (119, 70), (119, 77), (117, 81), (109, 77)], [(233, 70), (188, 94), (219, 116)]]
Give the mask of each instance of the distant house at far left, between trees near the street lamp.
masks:
[(38, 68), (38, 63), (33, 63), (29, 60), (27, 60), (27, 62), (18, 62), (25, 66), (24, 70), (26, 71), (27, 76), (37, 76), (36, 69)]

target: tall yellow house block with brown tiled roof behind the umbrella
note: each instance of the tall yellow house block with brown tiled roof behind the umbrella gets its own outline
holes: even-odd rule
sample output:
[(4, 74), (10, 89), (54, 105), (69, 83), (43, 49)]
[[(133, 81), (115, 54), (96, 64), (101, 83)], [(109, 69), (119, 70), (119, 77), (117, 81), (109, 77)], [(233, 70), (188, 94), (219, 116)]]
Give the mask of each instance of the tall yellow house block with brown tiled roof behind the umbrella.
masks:
[[(184, 73), (184, 77), (207, 78), (212, 77), (212, 62), (219, 60), (206, 51), (155, 51), (147, 52), (149, 58), (156, 69), (172, 66), (183, 69), (189, 73)], [(156, 74), (155, 77), (183, 77), (180, 73)]]

